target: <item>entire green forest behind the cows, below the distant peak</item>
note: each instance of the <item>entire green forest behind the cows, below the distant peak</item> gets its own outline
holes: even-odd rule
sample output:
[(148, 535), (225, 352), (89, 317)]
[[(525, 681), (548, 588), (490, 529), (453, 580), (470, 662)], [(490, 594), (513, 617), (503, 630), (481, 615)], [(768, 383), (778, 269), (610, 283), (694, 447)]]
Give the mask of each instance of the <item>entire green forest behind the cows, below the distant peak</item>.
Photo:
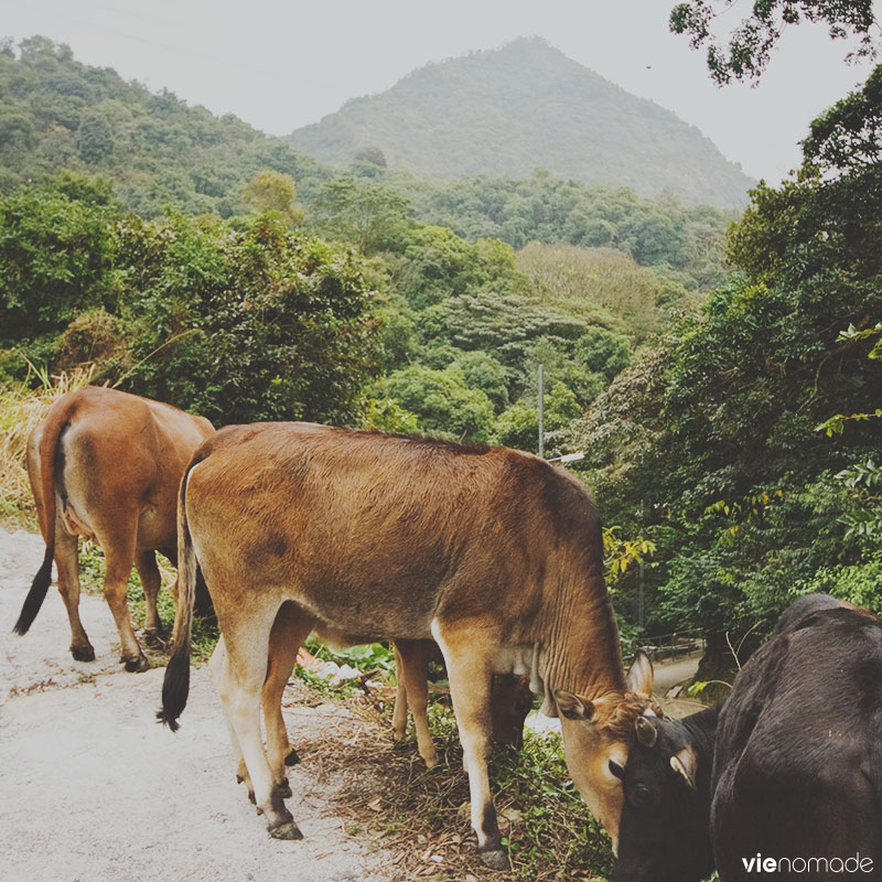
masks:
[[(0, 51), (0, 381), (97, 378), (216, 423), (311, 419), (580, 451), (627, 635), (881, 610), (882, 73), (743, 215), (542, 169), (332, 171), (230, 117)], [(614, 550), (614, 549), (613, 549)], [(636, 552), (635, 552), (636, 553)], [(633, 557), (633, 555), (632, 555)], [(751, 642), (745, 643), (749, 649)]]

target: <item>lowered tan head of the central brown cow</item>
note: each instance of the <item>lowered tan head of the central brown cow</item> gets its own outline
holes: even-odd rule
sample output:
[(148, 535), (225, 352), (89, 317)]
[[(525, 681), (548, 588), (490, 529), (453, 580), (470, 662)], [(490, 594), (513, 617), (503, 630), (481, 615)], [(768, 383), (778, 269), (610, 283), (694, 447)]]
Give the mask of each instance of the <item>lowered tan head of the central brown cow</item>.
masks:
[(555, 692), (567, 768), (591, 814), (609, 831), (615, 851), (622, 815), (621, 773), (634, 740), (635, 721), (660, 714), (652, 698), (653, 665), (638, 653), (627, 674), (627, 691), (589, 700), (573, 692)]

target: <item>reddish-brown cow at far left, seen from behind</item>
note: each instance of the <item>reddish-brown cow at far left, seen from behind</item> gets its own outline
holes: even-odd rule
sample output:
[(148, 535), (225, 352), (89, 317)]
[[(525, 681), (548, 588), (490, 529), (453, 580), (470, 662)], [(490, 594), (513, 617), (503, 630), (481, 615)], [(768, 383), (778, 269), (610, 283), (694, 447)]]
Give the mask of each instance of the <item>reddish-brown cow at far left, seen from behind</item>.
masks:
[(71, 620), (71, 653), (92, 662), (95, 649), (79, 621), (77, 537), (97, 541), (107, 573), (104, 595), (122, 644), (126, 670), (150, 667), (132, 631), (126, 585), (132, 563), (147, 598), (147, 635), (159, 635), (160, 576), (154, 550), (178, 558), (178, 485), (193, 451), (211, 434), (208, 420), (99, 386), (60, 398), (28, 439), (28, 475), (46, 542), (14, 631), (25, 634), (52, 580)]

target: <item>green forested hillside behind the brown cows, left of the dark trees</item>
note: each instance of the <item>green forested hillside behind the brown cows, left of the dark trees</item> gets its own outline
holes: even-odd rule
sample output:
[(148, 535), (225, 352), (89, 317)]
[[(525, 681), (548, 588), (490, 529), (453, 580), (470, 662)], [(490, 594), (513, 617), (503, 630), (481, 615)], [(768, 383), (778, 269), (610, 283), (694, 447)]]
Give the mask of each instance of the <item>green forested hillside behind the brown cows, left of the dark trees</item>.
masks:
[[(103, 377), (215, 421), (336, 413), (534, 449), (539, 362), (553, 443), (637, 343), (724, 276), (719, 246), (733, 215), (718, 209), (548, 172), (439, 186), (369, 152), (332, 175), (41, 37), (18, 55), (7, 46), (0, 65), (2, 363), (12, 375), (29, 361), (93, 358)], [(286, 266), (305, 288), (286, 289)], [(313, 288), (325, 297), (341, 272), (336, 295), (356, 299), (332, 299), (318, 325), (304, 322), (298, 310)], [(356, 301), (354, 337), (332, 316), (349, 316)], [(265, 326), (251, 312), (261, 302)], [(330, 356), (319, 373), (305, 368), (308, 325), (329, 352), (332, 340), (362, 341), (335, 368), (345, 377)]]

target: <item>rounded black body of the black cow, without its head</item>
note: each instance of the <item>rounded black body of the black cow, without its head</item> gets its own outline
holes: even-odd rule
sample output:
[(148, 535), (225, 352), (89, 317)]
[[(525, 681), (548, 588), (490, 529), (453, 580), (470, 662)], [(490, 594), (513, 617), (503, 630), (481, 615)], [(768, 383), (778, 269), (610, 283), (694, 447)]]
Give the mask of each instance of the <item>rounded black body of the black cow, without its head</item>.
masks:
[(762, 647), (736, 678), (718, 730), (711, 825), (721, 878), (752, 878), (742, 858), (756, 853), (859, 851), (882, 870), (881, 720), (878, 620), (820, 612)]

